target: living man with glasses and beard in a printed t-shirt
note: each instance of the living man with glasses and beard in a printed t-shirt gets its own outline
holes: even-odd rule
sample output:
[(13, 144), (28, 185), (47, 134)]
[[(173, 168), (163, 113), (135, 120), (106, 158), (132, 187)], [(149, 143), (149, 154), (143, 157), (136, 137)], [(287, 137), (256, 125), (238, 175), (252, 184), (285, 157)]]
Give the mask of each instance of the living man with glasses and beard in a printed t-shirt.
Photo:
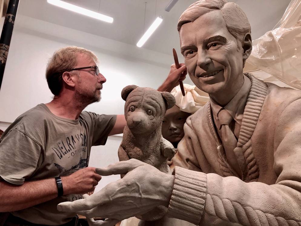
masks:
[[(12, 212), (9, 221), (64, 224), (75, 214), (58, 213), (55, 206), (93, 191), (101, 179), (87, 167), (91, 146), (122, 133), (125, 120), (123, 115), (82, 112), (101, 99), (106, 79), (96, 63), (97, 57), (83, 48), (55, 52), (46, 70), (53, 100), (23, 113), (2, 135), (0, 211)], [(59, 176), (63, 194), (58, 196)]]

